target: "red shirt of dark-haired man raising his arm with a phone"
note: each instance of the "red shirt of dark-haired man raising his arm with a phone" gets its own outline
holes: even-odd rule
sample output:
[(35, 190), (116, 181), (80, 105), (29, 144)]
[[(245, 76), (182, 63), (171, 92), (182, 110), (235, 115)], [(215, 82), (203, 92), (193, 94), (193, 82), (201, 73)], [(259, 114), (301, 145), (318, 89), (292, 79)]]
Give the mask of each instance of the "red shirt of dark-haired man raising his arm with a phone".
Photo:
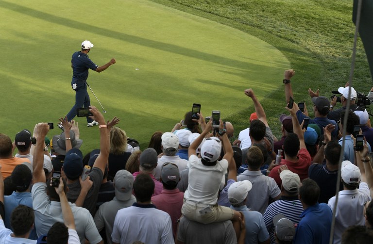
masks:
[(282, 159), (280, 165), (272, 168), (271, 173), (268, 176), (276, 181), (278, 187), (281, 188), (282, 183), (280, 174), (278, 173), (278, 169), (281, 166), (281, 164), (286, 164), (291, 172), (298, 174), (299, 178), (301, 179), (301, 182), (304, 179), (308, 178), (308, 167), (309, 165), (311, 165), (311, 156), (309, 155), (309, 152), (306, 148), (301, 148), (298, 152), (297, 157), (297, 162), (290, 162), (288, 160)]

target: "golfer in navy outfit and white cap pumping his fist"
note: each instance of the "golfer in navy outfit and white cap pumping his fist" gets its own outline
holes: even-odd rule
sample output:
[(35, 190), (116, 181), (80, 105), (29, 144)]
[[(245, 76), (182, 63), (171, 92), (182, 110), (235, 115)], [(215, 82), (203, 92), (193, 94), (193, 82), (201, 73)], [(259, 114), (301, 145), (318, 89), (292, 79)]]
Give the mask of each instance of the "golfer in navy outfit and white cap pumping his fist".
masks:
[[(88, 57), (88, 52), (93, 47), (90, 41), (84, 41), (82, 43), (82, 50), (74, 52), (71, 57), (71, 68), (72, 68), (72, 81), (71, 86), (75, 91), (75, 105), (68, 112), (68, 121), (71, 121), (76, 116), (77, 108), (88, 108), (91, 103), (89, 100), (89, 95), (87, 92), (88, 69), (92, 69), (97, 72), (104, 71), (110, 65), (115, 64), (115, 59), (112, 58), (106, 65), (98, 66), (92, 62)], [(87, 117), (87, 126), (92, 127), (98, 125), (99, 123), (93, 119)]]

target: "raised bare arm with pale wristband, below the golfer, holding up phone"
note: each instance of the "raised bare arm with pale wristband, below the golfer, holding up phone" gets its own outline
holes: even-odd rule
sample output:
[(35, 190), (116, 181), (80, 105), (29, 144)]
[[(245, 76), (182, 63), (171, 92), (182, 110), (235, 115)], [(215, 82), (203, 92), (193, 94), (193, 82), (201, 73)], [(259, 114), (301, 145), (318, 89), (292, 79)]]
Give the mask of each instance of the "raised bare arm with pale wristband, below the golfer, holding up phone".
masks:
[(102, 173), (105, 172), (106, 164), (109, 158), (109, 133), (107, 131), (107, 125), (105, 118), (95, 106), (89, 106), (89, 111), (93, 114), (92, 119), (99, 122), (100, 130), (100, 154), (97, 157), (92, 168), (100, 168)]

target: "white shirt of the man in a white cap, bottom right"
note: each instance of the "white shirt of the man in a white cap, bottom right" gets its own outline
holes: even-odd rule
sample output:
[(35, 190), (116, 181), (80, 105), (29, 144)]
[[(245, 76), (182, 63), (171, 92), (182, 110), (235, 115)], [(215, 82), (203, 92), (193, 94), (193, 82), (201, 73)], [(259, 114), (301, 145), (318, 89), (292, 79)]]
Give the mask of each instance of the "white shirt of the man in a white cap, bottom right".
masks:
[[(336, 211), (336, 225), (334, 227), (334, 244), (340, 244), (343, 231), (349, 226), (365, 225), (363, 216), (364, 203), (371, 200), (368, 184), (360, 182), (356, 190), (344, 190), (339, 192)], [(328, 201), (328, 206), (333, 211), (336, 197)]]

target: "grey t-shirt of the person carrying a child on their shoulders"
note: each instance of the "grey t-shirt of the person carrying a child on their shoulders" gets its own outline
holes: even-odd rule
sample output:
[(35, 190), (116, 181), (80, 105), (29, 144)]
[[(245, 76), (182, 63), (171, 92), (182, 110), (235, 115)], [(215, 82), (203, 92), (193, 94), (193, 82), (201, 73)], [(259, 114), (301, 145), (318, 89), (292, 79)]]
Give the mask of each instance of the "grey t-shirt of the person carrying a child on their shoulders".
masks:
[(186, 217), (180, 219), (177, 240), (184, 244), (214, 243), (237, 244), (237, 237), (232, 221), (201, 224)]

